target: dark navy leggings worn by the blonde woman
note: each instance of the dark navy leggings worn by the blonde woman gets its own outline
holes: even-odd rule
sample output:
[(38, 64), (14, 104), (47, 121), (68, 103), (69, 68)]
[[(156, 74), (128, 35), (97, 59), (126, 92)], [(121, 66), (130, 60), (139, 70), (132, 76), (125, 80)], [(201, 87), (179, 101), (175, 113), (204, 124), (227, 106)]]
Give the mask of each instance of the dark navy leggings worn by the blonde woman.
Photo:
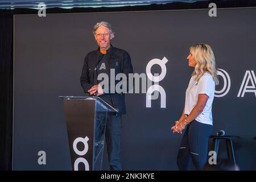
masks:
[(211, 134), (212, 125), (196, 120), (187, 125), (177, 155), (177, 166), (180, 170), (188, 170), (191, 159), (197, 170), (203, 169), (207, 163), (208, 139)]

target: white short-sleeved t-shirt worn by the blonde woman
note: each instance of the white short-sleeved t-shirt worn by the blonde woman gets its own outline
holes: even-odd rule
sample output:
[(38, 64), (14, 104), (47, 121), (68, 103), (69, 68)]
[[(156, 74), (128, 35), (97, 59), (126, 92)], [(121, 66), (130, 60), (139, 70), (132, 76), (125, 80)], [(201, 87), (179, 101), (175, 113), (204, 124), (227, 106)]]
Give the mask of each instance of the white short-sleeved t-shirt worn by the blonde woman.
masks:
[(199, 82), (195, 80), (195, 76), (192, 76), (186, 90), (184, 114), (189, 115), (191, 113), (193, 107), (195, 107), (197, 103), (199, 94), (207, 94), (209, 97), (207, 104), (205, 105), (203, 112), (196, 117), (196, 121), (212, 125), (212, 102), (214, 91), (215, 82), (212, 75), (204, 73)]

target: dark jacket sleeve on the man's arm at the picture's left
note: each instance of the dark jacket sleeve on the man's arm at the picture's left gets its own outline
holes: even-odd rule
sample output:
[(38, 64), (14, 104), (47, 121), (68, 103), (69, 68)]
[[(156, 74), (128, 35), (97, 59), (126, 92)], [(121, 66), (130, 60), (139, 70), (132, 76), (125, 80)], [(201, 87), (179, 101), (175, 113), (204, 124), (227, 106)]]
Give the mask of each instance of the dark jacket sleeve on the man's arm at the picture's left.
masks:
[(89, 68), (88, 68), (88, 55), (85, 56), (84, 59), (84, 65), (82, 67), (82, 74), (80, 77), (80, 82), (82, 89), (84, 89), (85, 93), (88, 93), (88, 90), (93, 86), (93, 84), (90, 84), (89, 80)]

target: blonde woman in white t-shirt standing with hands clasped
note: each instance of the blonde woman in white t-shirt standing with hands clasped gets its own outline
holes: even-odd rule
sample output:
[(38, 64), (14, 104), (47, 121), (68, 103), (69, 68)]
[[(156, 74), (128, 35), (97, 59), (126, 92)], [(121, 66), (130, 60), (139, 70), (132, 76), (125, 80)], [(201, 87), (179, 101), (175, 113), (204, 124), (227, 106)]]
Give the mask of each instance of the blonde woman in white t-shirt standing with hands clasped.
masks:
[(197, 170), (207, 163), (208, 139), (212, 134), (212, 102), (215, 85), (218, 84), (215, 58), (208, 44), (196, 44), (189, 48), (189, 67), (194, 67), (185, 93), (183, 113), (171, 128), (174, 133), (185, 133), (181, 140), (177, 166), (188, 170), (192, 159)]

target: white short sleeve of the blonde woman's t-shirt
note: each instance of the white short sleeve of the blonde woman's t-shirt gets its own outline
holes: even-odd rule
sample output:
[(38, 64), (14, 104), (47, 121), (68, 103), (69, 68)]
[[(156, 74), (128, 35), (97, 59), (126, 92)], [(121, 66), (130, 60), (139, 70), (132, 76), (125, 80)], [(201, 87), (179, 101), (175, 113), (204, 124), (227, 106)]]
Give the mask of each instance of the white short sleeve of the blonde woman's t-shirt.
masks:
[(210, 97), (210, 94), (215, 90), (215, 82), (211, 75), (204, 75), (200, 78), (198, 82), (198, 94), (207, 94)]

